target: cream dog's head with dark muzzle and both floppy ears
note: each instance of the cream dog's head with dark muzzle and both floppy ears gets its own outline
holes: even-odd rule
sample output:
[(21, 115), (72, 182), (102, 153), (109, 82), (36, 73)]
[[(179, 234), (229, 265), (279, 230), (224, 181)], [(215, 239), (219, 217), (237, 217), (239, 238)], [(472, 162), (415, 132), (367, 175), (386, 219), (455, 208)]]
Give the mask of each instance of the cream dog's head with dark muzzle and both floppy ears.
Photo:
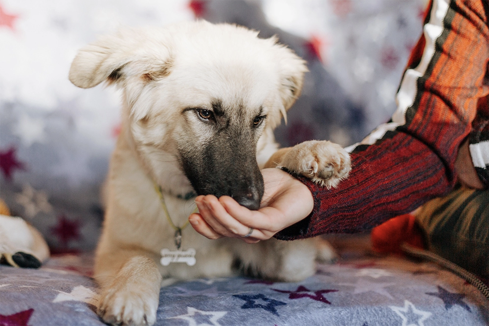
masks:
[(198, 194), (258, 209), (257, 152), (273, 142), (307, 68), (275, 38), (257, 34), (205, 21), (124, 29), (82, 48), (69, 79), (123, 90), (125, 126), (153, 175), (163, 169), (155, 153), (171, 155)]

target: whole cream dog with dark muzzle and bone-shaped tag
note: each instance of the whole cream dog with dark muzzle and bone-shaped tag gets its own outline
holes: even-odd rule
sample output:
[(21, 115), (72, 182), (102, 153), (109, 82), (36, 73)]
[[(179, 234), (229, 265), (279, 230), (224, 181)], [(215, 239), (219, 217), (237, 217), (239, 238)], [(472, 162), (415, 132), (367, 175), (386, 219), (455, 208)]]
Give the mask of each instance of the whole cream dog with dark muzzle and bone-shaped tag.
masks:
[[(123, 91), (95, 262), (106, 322), (154, 324), (162, 277), (222, 277), (237, 266), (298, 281), (314, 273), (318, 255), (334, 257), (314, 239), (247, 245), (186, 227), (195, 194), (260, 206), (260, 167), (277, 150), (273, 129), (299, 96), (307, 68), (275, 38), (257, 34), (204, 21), (123, 29), (74, 59), (69, 78), (76, 86), (106, 81)], [(327, 141), (300, 144), (274, 162), (326, 186), (350, 170), (348, 153)]]

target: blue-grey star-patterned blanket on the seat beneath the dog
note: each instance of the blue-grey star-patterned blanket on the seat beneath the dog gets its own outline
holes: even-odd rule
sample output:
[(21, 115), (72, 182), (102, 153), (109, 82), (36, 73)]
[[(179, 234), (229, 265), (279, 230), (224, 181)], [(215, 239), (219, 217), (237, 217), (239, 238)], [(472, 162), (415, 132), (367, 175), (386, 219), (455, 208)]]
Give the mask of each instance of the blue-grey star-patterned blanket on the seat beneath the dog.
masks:
[[(299, 283), (231, 277), (163, 287), (156, 325), (483, 326), (489, 303), (439, 266), (341, 254)], [(0, 325), (103, 326), (91, 256), (60, 255), (39, 270), (0, 266)]]

